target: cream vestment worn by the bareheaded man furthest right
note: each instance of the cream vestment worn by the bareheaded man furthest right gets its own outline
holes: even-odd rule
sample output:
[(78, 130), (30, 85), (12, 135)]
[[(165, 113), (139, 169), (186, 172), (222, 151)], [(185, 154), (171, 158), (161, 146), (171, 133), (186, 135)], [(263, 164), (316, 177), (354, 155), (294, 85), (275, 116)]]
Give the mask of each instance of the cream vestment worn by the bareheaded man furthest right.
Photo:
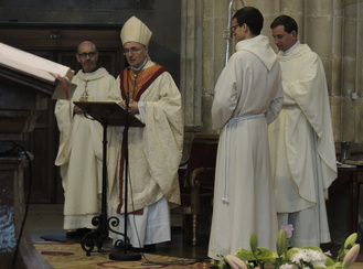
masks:
[(278, 61), (284, 107), (269, 139), (279, 225), (295, 226), (292, 246), (319, 246), (330, 241), (324, 191), (337, 177), (325, 74), (306, 44), (287, 56), (280, 52)]

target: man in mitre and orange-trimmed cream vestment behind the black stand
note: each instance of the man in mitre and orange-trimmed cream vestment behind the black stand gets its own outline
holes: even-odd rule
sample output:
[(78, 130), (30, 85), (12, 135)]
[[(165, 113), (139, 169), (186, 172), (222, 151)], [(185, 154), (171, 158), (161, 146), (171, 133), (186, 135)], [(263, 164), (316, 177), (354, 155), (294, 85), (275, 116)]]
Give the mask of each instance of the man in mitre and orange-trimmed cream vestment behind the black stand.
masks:
[[(120, 105), (145, 127), (119, 129), (115, 144), (118, 163), (108, 176), (109, 215), (120, 219), (115, 227), (118, 233), (125, 232), (125, 183), (128, 182), (126, 236), (138, 251), (171, 240), (170, 206), (180, 204), (181, 95), (170, 73), (148, 55), (151, 34), (148, 26), (135, 17), (121, 30), (124, 54), (129, 66), (117, 77), (122, 99)], [(128, 174), (125, 174), (127, 164)], [(114, 240), (125, 239), (124, 235), (110, 233), (110, 236)]]

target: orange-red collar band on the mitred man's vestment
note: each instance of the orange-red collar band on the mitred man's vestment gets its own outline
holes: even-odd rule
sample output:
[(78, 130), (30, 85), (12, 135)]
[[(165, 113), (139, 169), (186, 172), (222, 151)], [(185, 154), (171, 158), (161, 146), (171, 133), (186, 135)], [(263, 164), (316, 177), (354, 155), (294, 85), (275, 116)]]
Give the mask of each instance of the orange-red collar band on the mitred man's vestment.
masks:
[(154, 63), (148, 63), (145, 68), (138, 72), (130, 67), (124, 69), (120, 74), (120, 90), (122, 98), (126, 99), (126, 96), (129, 95), (130, 99), (136, 101), (140, 100), (140, 96), (163, 72), (166, 72), (166, 68)]

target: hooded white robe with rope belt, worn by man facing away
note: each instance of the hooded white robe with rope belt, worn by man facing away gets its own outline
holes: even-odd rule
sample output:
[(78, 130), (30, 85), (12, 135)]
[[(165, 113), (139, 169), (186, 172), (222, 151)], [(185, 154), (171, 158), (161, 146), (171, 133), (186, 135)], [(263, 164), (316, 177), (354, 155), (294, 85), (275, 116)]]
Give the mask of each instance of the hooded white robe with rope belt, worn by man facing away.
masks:
[(236, 44), (216, 86), (213, 128), (221, 129), (209, 257), (258, 246), (275, 249), (277, 216), (267, 125), (282, 106), (280, 67), (268, 39)]

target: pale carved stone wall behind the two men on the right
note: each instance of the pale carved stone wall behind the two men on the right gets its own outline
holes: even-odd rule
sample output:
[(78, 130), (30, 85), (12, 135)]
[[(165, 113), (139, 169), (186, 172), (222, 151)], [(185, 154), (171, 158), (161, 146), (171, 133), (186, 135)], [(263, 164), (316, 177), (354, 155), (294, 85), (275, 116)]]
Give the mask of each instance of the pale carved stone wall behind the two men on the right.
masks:
[[(182, 0), (182, 6), (192, 7), (196, 2), (200, 1)], [(229, 0), (204, 0), (202, 8), (194, 9), (192, 14), (188, 13), (188, 21), (193, 21), (192, 28), (185, 20), (189, 9), (182, 9), (183, 31), (190, 37), (195, 34), (203, 36), (197, 44), (189, 42), (184, 50), (184, 52), (192, 52), (194, 62), (189, 62), (186, 65), (185, 54), (181, 52), (182, 73), (190, 65), (202, 66), (196, 71), (196, 74), (202, 76), (201, 84), (195, 84), (191, 77), (181, 79), (183, 94), (190, 94), (190, 90), (193, 90), (193, 98), (190, 98), (192, 104), (189, 104), (185, 110), (185, 121), (190, 127), (200, 126), (204, 132), (212, 132), (210, 110), (214, 85), (224, 67), (226, 44), (223, 31), (227, 25), (229, 2)], [(325, 68), (337, 146), (339, 148), (341, 141), (351, 141), (353, 143), (351, 149), (354, 151), (355, 148), (360, 151), (363, 143), (363, 52), (361, 50), (363, 47), (363, 0), (235, 0), (232, 2), (233, 12), (243, 6), (254, 6), (261, 11), (265, 18), (263, 34), (270, 39), (274, 49), (276, 47), (269, 29), (271, 21), (282, 13), (297, 20), (300, 41), (309, 44), (319, 54)], [(196, 17), (203, 20), (195, 20)], [(202, 58), (197, 53), (202, 53)], [(196, 55), (199, 57), (195, 57)], [(191, 58), (190, 55), (189, 58)], [(199, 61), (202, 62), (199, 63)], [(199, 112), (200, 105), (202, 106), (201, 118), (197, 114), (194, 115)], [(191, 115), (194, 116), (191, 117)]]

